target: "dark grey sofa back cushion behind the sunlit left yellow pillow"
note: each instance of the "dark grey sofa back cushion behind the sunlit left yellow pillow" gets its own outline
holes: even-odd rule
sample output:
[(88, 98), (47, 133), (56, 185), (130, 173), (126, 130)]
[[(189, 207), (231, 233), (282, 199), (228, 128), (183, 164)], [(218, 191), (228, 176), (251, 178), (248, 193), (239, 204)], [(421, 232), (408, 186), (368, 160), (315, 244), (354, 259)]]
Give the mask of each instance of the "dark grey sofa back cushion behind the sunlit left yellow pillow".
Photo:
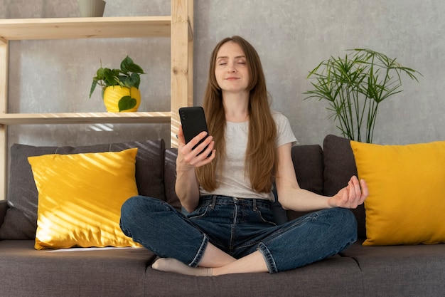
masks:
[(163, 189), (163, 140), (122, 142), (80, 147), (35, 147), (14, 144), (11, 147), (8, 204), (0, 239), (34, 239), (37, 228), (38, 192), (28, 157), (48, 154), (118, 152), (137, 147), (136, 184), (139, 194), (165, 199)]

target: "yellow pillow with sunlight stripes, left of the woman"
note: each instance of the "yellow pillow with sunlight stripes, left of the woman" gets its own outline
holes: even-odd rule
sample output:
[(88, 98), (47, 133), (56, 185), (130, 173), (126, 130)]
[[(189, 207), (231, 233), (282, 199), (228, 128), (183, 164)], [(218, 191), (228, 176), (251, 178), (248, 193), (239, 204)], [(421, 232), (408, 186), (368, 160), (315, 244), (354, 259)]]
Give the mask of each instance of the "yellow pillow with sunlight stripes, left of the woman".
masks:
[(36, 249), (139, 246), (119, 228), (137, 192), (137, 148), (28, 157), (38, 189)]

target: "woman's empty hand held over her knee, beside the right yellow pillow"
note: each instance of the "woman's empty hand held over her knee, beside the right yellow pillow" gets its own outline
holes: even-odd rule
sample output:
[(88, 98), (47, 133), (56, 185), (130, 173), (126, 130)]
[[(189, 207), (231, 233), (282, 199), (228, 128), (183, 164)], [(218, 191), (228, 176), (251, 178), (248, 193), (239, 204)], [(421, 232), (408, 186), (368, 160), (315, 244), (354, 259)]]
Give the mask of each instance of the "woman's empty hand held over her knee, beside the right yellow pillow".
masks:
[(353, 176), (346, 187), (328, 199), (328, 204), (331, 207), (355, 209), (365, 202), (368, 195), (368, 185), (365, 180), (361, 179), (359, 182), (358, 178)]

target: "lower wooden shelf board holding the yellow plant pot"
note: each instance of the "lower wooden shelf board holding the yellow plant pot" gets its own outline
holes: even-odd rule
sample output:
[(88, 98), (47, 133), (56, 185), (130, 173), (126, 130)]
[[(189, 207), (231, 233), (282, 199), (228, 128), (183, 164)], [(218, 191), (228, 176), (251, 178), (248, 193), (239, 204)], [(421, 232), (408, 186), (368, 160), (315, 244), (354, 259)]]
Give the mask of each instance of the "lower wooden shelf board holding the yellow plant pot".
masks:
[(0, 125), (170, 123), (168, 112), (138, 113), (6, 113)]

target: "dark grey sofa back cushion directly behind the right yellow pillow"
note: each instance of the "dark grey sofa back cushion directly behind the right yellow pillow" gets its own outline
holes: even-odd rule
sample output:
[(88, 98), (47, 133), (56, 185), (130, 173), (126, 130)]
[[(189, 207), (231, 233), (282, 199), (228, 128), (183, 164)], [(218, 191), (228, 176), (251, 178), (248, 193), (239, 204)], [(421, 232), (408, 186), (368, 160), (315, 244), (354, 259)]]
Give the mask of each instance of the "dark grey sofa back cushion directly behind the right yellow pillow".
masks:
[[(326, 196), (333, 196), (348, 185), (350, 177), (357, 175), (350, 141), (335, 135), (326, 135), (323, 140), (324, 189)], [(357, 219), (358, 237), (366, 238), (365, 207), (351, 209)]]

